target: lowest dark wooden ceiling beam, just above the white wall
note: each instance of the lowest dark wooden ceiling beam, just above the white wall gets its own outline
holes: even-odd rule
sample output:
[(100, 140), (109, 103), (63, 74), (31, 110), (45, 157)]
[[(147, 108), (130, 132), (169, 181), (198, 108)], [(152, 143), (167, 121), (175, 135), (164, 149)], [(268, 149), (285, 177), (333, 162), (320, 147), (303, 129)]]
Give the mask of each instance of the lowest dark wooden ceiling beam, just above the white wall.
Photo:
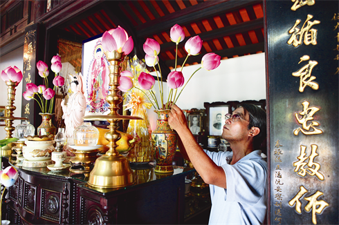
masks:
[[(261, 43), (254, 43), (251, 45), (247, 45), (247, 46), (239, 46), (239, 47), (235, 47), (235, 48), (227, 48), (227, 49), (223, 49), (223, 50), (219, 50), (219, 51), (215, 51), (214, 53), (217, 55), (220, 55), (221, 58), (223, 57), (233, 57), (233, 55), (245, 55), (245, 54), (255, 54), (256, 52), (262, 51), (264, 52), (265, 49), (265, 43), (261, 42)], [(196, 56), (190, 56), (187, 61), (185, 63), (191, 64), (194, 62), (201, 62), (201, 59), (203, 58), (203, 54), (200, 55), (196, 55)], [(182, 65), (183, 61), (185, 60), (185, 57), (180, 58), (177, 60), (177, 65)], [(175, 59), (172, 60), (167, 60), (165, 61), (165, 64), (170, 67), (174, 67), (175, 64)]]

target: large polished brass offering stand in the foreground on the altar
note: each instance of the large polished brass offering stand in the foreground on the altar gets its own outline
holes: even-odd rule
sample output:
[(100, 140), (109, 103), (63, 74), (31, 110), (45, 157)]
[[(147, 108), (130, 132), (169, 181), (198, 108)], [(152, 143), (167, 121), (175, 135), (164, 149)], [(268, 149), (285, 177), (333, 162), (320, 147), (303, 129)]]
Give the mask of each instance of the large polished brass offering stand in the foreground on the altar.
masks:
[(119, 188), (134, 184), (133, 171), (129, 166), (129, 162), (126, 157), (120, 155), (116, 148), (118, 145), (116, 141), (120, 138), (120, 134), (117, 132), (120, 119), (143, 119), (140, 117), (124, 116), (118, 114), (118, 109), (122, 102), (122, 97), (119, 95), (120, 90), (120, 63), (124, 60), (125, 56), (122, 53), (116, 52), (104, 52), (107, 60), (109, 61), (109, 95), (106, 97), (106, 101), (109, 104), (110, 113), (108, 115), (93, 115), (84, 117), (85, 120), (100, 120), (109, 122), (109, 132), (105, 134), (105, 138), (109, 141), (105, 155), (102, 155), (95, 161), (95, 165), (91, 173), (89, 174), (89, 184), (95, 188)]

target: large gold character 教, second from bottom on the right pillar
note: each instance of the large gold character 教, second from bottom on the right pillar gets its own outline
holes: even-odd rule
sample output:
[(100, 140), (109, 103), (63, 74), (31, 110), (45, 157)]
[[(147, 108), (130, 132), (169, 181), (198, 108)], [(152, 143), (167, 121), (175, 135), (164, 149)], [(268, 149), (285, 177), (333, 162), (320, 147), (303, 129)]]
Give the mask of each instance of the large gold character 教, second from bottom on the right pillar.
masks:
[[(305, 157), (306, 146), (300, 146), (300, 155), (297, 157), (299, 161), (293, 162), (293, 166), (295, 166), (294, 172), (297, 172), (298, 170), (300, 170), (299, 172), (297, 172), (297, 174), (301, 175), (302, 177), (304, 177), (306, 173), (308, 173), (311, 176), (315, 175), (320, 180), (324, 180), (324, 175), (322, 175), (318, 171), (320, 169), (320, 164), (313, 162), (314, 158), (319, 155), (317, 153), (317, 148), (318, 148), (317, 145), (311, 144), (311, 155), (309, 155), (309, 158), (307, 158)], [(309, 159), (309, 162), (307, 164), (306, 162), (304, 162), (306, 159)], [(308, 168), (304, 168), (304, 166), (306, 165), (308, 166)]]

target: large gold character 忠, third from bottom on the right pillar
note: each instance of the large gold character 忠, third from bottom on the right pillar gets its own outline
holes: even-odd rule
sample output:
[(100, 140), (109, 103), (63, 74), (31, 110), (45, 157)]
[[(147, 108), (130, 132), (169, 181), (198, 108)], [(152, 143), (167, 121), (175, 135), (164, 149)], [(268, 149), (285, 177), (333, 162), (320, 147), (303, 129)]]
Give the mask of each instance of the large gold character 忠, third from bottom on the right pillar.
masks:
[[(297, 122), (299, 124), (302, 124), (302, 128), (297, 128), (293, 131), (293, 134), (297, 136), (299, 134), (299, 131), (303, 133), (304, 135), (319, 135), (322, 134), (322, 130), (315, 128), (315, 126), (318, 126), (319, 123), (316, 121), (311, 121), (311, 124), (307, 125), (307, 122), (310, 120), (313, 120), (314, 113), (318, 112), (320, 108), (318, 107), (309, 107), (309, 101), (304, 101), (302, 103), (303, 110), (299, 114), (302, 116), (299, 118), (297, 113), (295, 113), (295, 118), (297, 119)], [(312, 130), (310, 131), (310, 128)]]

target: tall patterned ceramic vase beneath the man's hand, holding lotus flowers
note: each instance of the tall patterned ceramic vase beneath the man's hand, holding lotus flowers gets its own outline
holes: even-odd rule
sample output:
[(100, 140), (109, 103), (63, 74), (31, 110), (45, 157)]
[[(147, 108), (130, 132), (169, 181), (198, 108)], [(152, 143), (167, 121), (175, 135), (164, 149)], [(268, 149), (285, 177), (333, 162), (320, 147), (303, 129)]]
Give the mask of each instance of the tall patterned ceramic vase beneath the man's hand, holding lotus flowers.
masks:
[(156, 159), (156, 173), (173, 173), (172, 162), (176, 153), (178, 134), (168, 124), (170, 110), (155, 110), (158, 114), (156, 129), (152, 132), (152, 145)]

